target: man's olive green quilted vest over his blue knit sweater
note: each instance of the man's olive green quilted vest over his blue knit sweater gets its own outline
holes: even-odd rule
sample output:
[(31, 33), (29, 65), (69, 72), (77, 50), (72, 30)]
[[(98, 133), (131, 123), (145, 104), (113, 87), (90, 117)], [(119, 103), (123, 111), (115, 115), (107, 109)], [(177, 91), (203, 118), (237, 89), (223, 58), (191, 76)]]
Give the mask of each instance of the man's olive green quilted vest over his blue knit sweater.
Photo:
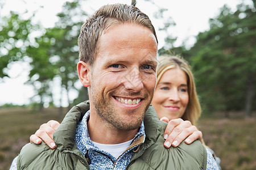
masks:
[[(45, 143), (25, 145), (17, 159), (18, 169), (90, 169), (85, 156), (75, 144), (76, 125), (89, 110), (89, 101), (76, 105), (67, 113), (53, 134), (57, 149)], [(191, 145), (182, 142), (179, 147), (164, 148), (166, 123), (159, 121), (152, 106), (144, 117), (146, 140), (134, 151), (126, 169), (206, 169), (207, 151), (200, 141)], [(131, 145), (134, 145), (132, 143)]]

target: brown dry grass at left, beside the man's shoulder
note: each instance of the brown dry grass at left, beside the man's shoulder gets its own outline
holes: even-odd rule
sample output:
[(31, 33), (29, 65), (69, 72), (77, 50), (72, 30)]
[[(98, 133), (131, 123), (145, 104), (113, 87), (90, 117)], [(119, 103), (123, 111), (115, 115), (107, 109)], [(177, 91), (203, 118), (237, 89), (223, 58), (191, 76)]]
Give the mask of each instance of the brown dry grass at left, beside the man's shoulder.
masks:
[(29, 137), (39, 126), (48, 120), (61, 121), (56, 108), (42, 113), (33, 113), (24, 108), (0, 110), (0, 169), (9, 169), (12, 160), (18, 155), (22, 146), (30, 142)]

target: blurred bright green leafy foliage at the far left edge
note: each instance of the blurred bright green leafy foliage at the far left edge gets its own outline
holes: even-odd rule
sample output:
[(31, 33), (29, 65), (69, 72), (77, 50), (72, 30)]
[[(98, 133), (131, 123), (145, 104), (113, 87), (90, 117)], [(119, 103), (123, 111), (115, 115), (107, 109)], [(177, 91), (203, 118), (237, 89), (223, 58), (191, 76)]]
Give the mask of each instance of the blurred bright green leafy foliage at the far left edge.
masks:
[(0, 81), (9, 76), (9, 63), (23, 59), (28, 46), (34, 46), (31, 33), (38, 25), (31, 24), (31, 18), (22, 19), (19, 14), (11, 11), (9, 16), (0, 20)]

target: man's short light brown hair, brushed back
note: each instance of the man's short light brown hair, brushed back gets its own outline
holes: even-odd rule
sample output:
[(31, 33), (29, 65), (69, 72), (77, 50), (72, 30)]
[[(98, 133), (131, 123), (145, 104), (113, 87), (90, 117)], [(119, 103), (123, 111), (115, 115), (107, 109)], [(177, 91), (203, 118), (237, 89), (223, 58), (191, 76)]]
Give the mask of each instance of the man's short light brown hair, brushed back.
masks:
[(93, 65), (99, 37), (110, 26), (122, 23), (136, 23), (149, 28), (158, 42), (151, 20), (137, 7), (120, 3), (105, 5), (82, 25), (78, 40), (80, 61)]

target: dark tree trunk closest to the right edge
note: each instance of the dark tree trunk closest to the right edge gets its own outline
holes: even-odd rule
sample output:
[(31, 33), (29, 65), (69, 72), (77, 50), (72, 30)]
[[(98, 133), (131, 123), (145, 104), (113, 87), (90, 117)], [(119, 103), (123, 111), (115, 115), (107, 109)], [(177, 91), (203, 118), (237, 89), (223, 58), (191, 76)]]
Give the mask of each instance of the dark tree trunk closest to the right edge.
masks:
[(249, 73), (245, 100), (245, 117), (251, 117), (251, 107), (253, 104), (254, 96), (253, 78), (253, 74)]

